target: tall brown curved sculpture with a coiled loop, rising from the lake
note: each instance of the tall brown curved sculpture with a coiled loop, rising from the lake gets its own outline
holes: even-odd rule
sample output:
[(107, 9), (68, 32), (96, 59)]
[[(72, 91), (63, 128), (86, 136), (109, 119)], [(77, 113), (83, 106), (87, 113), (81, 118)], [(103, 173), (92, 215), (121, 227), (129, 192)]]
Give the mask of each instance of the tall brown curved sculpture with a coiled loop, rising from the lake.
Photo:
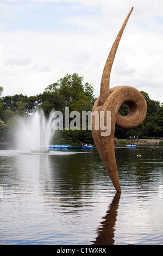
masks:
[[(112, 184), (117, 192), (121, 192), (120, 181), (118, 179), (117, 164), (114, 149), (114, 134), (115, 126), (122, 129), (131, 129), (137, 125), (140, 125), (146, 117), (147, 103), (143, 95), (135, 88), (130, 86), (117, 86), (109, 88), (110, 72), (112, 63), (115, 58), (115, 54), (118, 48), (118, 44), (121, 40), (122, 33), (128, 22), (129, 16), (133, 8), (131, 8), (126, 20), (124, 21), (120, 32), (118, 33), (114, 44), (110, 50), (108, 59), (104, 66), (100, 96), (96, 100), (92, 113), (98, 112), (99, 116), (101, 111), (104, 112), (104, 124), (106, 124), (106, 112), (111, 112), (111, 132), (109, 136), (102, 136), (103, 130), (99, 128), (95, 129), (95, 118), (92, 115), (92, 136), (95, 141), (98, 153), (104, 163), (104, 166), (110, 176)], [(125, 103), (129, 107), (129, 114), (122, 117), (118, 114), (118, 110), (122, 103)]]

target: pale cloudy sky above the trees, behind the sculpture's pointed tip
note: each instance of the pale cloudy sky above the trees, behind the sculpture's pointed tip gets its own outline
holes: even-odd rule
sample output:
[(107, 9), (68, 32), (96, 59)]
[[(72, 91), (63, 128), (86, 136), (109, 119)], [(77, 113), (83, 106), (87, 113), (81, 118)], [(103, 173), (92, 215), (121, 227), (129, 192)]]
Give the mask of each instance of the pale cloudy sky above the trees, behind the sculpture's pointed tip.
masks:
[(133, 86), (162, 103), (162, 0), (0, 0), (2, 96), (37, 95), (77, 73), (98, 97), (106, 58), (132, 7), (110, 88)]

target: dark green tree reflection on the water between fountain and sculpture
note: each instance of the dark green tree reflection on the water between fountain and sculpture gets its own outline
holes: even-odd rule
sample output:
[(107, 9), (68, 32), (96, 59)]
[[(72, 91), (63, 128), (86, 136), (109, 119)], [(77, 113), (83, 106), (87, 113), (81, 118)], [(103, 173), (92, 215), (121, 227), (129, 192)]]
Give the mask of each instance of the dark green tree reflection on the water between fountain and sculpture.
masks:
[[(49, 164), (51, 166), (52, 179), (54, 180), (54, 188), (59, 187), (60, 192), (79, 191), (80, 193), (88, 190), (96, 183), (97, 179), (101, 179), (100, 167), (101, 159), (97, 159), (97, 154), (87, 151), (70, 151), (63, 155), (49, 156)], [(103, 166), (102, 166), (103, 167)]]

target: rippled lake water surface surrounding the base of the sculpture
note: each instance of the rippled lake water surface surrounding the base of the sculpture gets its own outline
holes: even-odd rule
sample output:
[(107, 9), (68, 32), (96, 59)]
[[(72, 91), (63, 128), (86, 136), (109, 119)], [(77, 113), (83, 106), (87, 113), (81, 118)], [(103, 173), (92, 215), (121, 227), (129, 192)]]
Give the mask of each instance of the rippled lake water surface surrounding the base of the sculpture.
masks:
[(115, 151), (122, 193), (96, 149), (0, 150), (0, 244), (163, 245), (163, 147)]

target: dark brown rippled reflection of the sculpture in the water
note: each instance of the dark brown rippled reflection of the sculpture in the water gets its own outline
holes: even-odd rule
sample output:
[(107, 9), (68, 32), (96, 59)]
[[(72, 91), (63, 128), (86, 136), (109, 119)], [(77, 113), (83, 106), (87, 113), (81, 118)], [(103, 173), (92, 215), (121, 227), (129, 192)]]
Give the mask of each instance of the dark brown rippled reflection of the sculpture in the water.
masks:
[(93, 241), (92, 245), (114, 245), (114, 233), (115, 233), (115, 223), (117, 218), (117, 210), (120, 202), (121, 193), (116, 193), (112, 203), (110, 204), (109, 210), (103, 217), (100, 227), (96, 230), (97, 237)]

